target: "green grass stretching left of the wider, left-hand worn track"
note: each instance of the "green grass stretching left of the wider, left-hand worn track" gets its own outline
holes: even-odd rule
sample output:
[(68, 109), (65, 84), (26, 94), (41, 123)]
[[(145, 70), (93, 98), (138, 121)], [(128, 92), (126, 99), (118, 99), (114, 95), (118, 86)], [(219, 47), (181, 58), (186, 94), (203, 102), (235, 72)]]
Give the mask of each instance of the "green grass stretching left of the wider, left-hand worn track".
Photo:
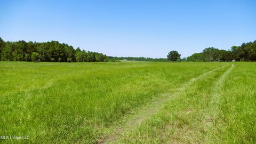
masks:
[(22, 141), (31, 143), (95, 143), (131, 111), (222, 65), (0, 62), (0, 133), (29, 135)]

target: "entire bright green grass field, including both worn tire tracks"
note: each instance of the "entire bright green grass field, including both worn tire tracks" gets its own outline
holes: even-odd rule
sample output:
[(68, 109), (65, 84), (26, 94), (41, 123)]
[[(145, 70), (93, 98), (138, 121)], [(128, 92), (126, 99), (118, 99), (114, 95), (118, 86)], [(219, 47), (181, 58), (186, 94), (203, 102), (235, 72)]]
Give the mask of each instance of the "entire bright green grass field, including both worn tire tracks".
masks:
[(0, 62), (13, 143), (256, 143), (253, 62)]

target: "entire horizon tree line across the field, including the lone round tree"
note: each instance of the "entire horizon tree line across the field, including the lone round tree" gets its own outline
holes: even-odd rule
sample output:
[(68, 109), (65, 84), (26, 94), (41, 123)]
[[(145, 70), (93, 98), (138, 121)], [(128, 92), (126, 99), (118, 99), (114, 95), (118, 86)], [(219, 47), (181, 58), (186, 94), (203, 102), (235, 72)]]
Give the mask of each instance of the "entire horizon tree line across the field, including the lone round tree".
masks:
[(51, 41), (37, 42), (5, 42), (0, 37), (0, 60), (2, 61), (51, 61), (51, 62), (99, 62), (99, 61), (256, 61), (256, 41), (232, 46), (230, 50), (219, 50), (207, 47), (200, 53), (180, 59), (177, 51), (171, 51), (165, 58), (145, 57), (107, 57), (107, 55), (74, 49), (73, 46)]

